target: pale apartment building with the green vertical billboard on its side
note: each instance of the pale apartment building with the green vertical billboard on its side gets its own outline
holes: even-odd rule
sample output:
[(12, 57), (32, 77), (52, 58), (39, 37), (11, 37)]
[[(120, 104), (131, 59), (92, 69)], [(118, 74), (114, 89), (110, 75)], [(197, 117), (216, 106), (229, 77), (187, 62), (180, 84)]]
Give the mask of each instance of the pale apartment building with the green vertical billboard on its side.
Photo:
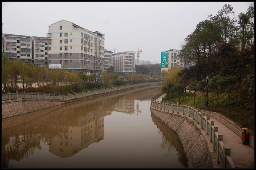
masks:
[(184, 59), (179, 57), (180, 50), (169, 49), (165, 52), (161, 52), (161, 72), (163, 70), (168, 71), (172, 67), (180, 67), (181, 69), (188, 68), (195, 65), (191, 62), (186, 62)]

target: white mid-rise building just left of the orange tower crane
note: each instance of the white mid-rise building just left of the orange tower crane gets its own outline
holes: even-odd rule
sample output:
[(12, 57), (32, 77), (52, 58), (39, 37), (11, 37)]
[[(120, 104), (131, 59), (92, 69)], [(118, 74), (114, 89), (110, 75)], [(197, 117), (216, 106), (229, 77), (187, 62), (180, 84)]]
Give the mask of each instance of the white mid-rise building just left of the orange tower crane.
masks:
[(114, 72), (135, 73), (135, 52), (118, 52), (112, 54), (112, 64), (115, 67)]

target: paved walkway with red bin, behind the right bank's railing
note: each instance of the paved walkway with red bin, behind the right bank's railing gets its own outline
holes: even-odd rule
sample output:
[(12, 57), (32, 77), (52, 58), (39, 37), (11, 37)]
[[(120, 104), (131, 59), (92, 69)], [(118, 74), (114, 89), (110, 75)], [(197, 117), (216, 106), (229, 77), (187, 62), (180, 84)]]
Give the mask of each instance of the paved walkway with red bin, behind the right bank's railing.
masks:
[[(163, 96), (165, 96), (165, 94), (160, 96), (160, 98), (157, 98), (156, 101), (161, 102)], [(223, 135), (224, 145), (229, 146), (231, 149), (230, 156), (235, 163), (235, 167), (254, 168), (254, 147), (243, 144), (241, 137), (229, 129), (225, 124), (221, 123), (221, 121), (212, 117), (210, 117), (210, 120), (214, 121), (214, 126), (218, 127), (218, 133)], [(213, 145), (213, 143), (209, 143), (209, 141), (207, 142), (208, 145)]]

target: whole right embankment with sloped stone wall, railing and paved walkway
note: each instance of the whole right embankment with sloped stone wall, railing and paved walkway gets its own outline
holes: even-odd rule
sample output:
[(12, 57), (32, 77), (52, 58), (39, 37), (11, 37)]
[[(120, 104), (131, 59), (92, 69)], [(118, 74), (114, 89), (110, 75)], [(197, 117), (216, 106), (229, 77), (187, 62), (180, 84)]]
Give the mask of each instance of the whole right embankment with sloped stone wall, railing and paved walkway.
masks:
[[(227, 118), (217, 113), (204, 114), (192, 107), (188, 111), (188, 107), (184, 105), (161, 103), (162, 96), (155, 96), (152, 98), (150, 110), (179, 137), (189, 167), (204, 167), (209, 160), (214, 168), (254, 167), (254, 147), (250, 142), (243, 143), (239, 132), (237, 134), (232, 128), (235, 127), (232, 121), (227, 121)], [(202, 118), (207, 118), (208, 126), (205, 126), (206, 122)], [(254, 145), (253, 135), (249, 139)]]

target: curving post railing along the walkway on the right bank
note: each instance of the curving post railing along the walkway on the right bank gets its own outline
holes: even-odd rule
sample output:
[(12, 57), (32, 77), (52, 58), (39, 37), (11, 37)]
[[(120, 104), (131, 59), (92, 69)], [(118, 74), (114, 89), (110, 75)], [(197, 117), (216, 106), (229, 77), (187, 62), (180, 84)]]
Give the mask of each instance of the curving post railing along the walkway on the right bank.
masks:
[(171, 113), (182, 113), (183, 115), (187, 115), (189, 117), (192, 117), (193, 120), (196, 120), (197, 124), (201, 125), (202, 129), (205, 129), (206, 135), (210, 136), (211, 142), (213, 143), (213, 151), (217, 153), (217, 159), (218, 163), (221, 165), (221, 167), (235, 167), (235, 163), (230, 157), (230, 147), (224, 145), (222, 139), (223, 136), (221, 134), (218, 134), (218, 127), (214, 126), (214, 121), (210, 121), (210, 116), (205, 116), (204, 112), (200, 112), (199, 108), (195, 108), (195, 106), (191, 107), (179, 104), (172, 103), (162, 103), (159, 101), (156, 101), (157, 98), (162, 96), (164, 93), (158, 93), (154, 95), (151, 99), (151, 106), (155, 109), (164, 110)]

